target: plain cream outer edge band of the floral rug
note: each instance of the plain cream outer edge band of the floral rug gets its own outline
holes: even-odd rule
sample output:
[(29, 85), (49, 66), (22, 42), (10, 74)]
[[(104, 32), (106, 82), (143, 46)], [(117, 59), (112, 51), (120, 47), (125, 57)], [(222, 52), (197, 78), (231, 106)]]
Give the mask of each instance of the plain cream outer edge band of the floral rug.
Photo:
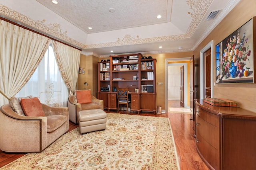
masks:
[[(179, 161), (178, 161), (178, 154), (177, 154), (177, 150), (176, 150), (176, 144), (175, 144), (175, 141), (174, 141), (174, 137), (173, 137), (173, 133), (172, 133), (172, 126), (171, 126), (171, 123), (170, 123), (170, 119), (168, 117), (154, 117), (154, 116), (146, 116), (146, 115), (129, 115), (129, 114), (120, 114), (120, 113), (107, 113), (107, 115), (115, 115), (115, 116), (119, 116), (119, 117), (122, 117), (122, 118), (129, 118), (131, 119), (132, 117), (147, 117), (147, 118), (150, 118), (150, 119), (168, 119), (168, 122), (169, 122), (169, 126), (170, 126), (170, 134), (172, 136), (172, 143), (173, 143), (173, 146), (174, 146), (174, 152), (175, 152), (175, 156), (176, 156), (176, 166), (177, 166), (177, 169), (180, 170), (180, 165), (179, 165)], [(75, 129), (63, 134), (60, 138), (64, 138), (66, 136), (68, 136), (70, 133), (73, 133), (73, 131), (77, 131), (79, 127), (76, 127)], [(79, 131), (79, 130), (78, 130)], [(58, 141), (60, 138), (58, 138), (56, 141)], [(54, 143), (56, 143), (56, 141), (54, 141), (51, 145), (53, 145)], [(48, 149), (51, 145), (49, 145), (46, 149)], [(45, 149), (45, 150), (46, 150)], [(44, 151), (43, 151), (44, 152)], [(41, 152), (42, 153), (42, 152)], [(20, 159), (23, 159), (25, 156), (27, 156), (28, 154), (40, 154), (40, 153), (27, 153), (25, 154), (24, 156), (14, 160), (13, 162), (16, 162)], [(12, 164), (13, 162), (10, 162), (9, 164)], [(6, 166), (8, 166), (9, 164), (3, 166), (2, 168), (0, 168), (0, 170), (5, 170), (4, 168), (6, 168)], [(46, 168), (42, 168), (42, 169), (46, 169)], [(8, 170), (16, 170), (16, 168), (11, 168), (11, 167), (8, 167)], [(18, 170), (18, 169), (17, 169)]]

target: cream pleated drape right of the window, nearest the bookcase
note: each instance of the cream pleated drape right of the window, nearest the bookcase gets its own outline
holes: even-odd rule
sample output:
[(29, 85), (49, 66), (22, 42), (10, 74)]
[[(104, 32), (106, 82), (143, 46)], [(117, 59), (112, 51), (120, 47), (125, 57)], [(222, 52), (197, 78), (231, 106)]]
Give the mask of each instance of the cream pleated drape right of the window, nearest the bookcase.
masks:
[(78, 78), (81, 51), (56, 41), (52, 41), (52, 44), (62, 78), (70, 93), (74, 93)]

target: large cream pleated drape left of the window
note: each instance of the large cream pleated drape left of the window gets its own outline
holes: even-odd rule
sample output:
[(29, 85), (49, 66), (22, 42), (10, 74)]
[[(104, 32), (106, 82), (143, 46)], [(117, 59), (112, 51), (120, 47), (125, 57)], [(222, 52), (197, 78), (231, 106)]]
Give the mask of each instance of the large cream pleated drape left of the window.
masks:
[(0, 106), (28, 82), (50, 39), (0, 20)]

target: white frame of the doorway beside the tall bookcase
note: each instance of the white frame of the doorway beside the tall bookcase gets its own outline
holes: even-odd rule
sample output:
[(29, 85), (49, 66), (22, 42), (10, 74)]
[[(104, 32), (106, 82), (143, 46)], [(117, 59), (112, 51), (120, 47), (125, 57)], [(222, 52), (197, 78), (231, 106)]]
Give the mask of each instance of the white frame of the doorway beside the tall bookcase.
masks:
[[(174, 59), (165, 59), (165, 113), (168, 113), (168, 65), (184, 65), (184, 107), (188, 106), (188, 66), (187, 63), (170, 63), (170, 61), (189, 61), (190, 58), (174, 58)], [(188, 107), (189, 108), (189, 107)]]

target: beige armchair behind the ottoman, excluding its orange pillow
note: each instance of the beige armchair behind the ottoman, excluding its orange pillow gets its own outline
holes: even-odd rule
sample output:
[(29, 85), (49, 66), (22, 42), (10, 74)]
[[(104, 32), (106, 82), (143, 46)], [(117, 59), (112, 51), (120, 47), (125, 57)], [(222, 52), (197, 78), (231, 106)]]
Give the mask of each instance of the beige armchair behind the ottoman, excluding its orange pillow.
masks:
[(78, 124), (78, 113), (81, 110), (90, 110), (90, 109), (102, 109), (104, 110), (103, 100), (99, 100), (94, 96), (91, 96), (92, 103), (79, 104), (75, 102), (74, 95), (69, 96), (68, 98), (68, 109), (69, 109), (69, 120)]

